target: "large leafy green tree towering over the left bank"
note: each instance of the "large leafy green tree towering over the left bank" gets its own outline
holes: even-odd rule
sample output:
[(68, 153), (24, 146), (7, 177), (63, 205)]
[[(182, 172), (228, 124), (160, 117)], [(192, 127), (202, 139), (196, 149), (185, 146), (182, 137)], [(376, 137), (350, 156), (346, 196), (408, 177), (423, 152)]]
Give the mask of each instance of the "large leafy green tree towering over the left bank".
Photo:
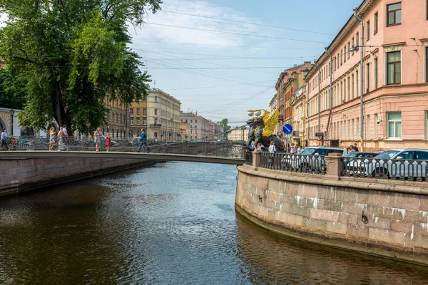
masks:
[(51, 118), (82, 133), (105, 123), (103, 100), (148, 95), (150, 76), (128, 48), (128, 25), (141, 26), (161, 0), (0, 0), (9, 16), (0, 56), (26, 82), (21, 125), (44, 129)]

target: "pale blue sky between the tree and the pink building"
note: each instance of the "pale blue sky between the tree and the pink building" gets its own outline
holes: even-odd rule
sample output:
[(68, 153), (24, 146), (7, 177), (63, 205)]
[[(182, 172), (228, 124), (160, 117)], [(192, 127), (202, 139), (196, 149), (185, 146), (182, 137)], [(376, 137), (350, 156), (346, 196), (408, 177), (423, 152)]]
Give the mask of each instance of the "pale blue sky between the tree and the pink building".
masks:
[(361, 1), (164, 0), (163, 11), (130, 29), (131, 48), (151, 86), (182, 110), (243, 125), (248, 109), (268, 108), (281, 71), (318, 58)]

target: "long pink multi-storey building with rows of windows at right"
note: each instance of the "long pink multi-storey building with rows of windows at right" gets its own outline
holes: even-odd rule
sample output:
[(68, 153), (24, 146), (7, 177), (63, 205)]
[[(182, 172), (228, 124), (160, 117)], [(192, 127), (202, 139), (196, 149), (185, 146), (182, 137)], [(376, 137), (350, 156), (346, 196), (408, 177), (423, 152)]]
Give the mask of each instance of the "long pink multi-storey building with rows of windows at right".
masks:
[(307, 88), (311, 145), (320, 131), (325, 145), (427, 148), (428, 1), (363, 1), (308, 73)]

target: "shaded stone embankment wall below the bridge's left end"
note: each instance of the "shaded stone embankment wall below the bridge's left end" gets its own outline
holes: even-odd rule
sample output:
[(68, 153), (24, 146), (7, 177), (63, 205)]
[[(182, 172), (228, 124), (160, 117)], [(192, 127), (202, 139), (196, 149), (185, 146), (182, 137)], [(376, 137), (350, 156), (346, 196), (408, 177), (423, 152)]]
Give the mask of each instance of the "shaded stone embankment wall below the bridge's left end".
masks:
[(153, 162), (113, 158), (31, 158), (0, 160), (0, 196), (83, 180)]

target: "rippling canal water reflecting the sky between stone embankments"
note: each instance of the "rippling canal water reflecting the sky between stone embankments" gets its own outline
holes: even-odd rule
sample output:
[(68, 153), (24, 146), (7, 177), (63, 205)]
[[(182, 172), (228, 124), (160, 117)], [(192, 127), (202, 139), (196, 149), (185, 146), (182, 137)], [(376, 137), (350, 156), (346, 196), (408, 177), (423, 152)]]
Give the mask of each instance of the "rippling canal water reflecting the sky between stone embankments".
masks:
[(168, 162), (0, 200), (0, 284), (427, 284), (428, 267), (267, 232), (230, 165)]

